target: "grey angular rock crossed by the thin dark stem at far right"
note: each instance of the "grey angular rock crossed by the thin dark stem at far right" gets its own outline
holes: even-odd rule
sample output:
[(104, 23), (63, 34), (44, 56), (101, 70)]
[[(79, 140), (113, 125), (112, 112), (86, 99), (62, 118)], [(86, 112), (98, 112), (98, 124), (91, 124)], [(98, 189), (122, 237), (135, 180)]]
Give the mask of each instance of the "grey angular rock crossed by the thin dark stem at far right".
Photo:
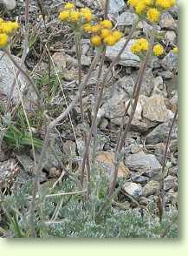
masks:
[[(149, 134), (146, 136), (146, 144), (157, 144), (159, 142), (166, 141), (166, 138), (169, 133), (171, 122), (166, 122), (165, 124), (160, 124), (156, 128), (154, 128)], [(172, 139), (178, 138), (178, 125), (175, 124), (172, 128)]]

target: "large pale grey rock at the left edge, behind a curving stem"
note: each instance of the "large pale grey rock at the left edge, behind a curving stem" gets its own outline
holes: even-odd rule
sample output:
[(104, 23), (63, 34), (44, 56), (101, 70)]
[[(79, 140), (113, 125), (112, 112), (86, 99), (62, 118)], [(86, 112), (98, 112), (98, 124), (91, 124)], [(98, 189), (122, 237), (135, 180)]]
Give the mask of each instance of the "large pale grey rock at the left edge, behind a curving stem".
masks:
[[(21, 59), (19, 57), (14, 56), (16, 62), (21, 64)], [(7, 57), (6, 54), (3, 54), (3, 51), (0, 51), (0, 93), (3, 93), (4, 96), (9, 97), (10, 88), (14, 82), (15, 72), (17, 69), (14, 67), (14, 64), (10, 61), (10, 58)], [(23, 74), (19, 74), (18, 84), (20, 84), (20, 91), (22, 92), (26, 88), (26, 79), (23, 77)], [(12, 96), (12, 101), (14, 104), (19, 101), (19, 94), (17, 86), (15, 86), (15, 90)]]

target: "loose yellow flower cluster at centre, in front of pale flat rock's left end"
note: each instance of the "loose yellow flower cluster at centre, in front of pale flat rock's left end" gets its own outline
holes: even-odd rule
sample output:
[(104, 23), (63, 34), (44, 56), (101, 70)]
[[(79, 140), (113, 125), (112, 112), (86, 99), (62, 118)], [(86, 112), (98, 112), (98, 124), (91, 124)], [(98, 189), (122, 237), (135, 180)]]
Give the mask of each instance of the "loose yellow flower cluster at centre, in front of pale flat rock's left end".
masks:
[(91, 44), (100, 46), (106, 44), (113, 46), (120, 41), (123, 34), (120, 30), (112, 30), (113, 24), (110, 20), (100, 21), (98, 24), (85, 24), (83, 30), (92, 33)]

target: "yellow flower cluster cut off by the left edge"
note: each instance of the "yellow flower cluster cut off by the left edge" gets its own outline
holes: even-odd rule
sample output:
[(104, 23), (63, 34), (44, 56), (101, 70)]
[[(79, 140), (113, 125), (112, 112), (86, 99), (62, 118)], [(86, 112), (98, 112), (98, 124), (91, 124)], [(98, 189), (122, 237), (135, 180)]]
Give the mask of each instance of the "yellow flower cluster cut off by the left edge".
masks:
[(9, 43), (9, 37), (19, 28), (17, 22), (4, 21), (0, 18), (0, 48)]

